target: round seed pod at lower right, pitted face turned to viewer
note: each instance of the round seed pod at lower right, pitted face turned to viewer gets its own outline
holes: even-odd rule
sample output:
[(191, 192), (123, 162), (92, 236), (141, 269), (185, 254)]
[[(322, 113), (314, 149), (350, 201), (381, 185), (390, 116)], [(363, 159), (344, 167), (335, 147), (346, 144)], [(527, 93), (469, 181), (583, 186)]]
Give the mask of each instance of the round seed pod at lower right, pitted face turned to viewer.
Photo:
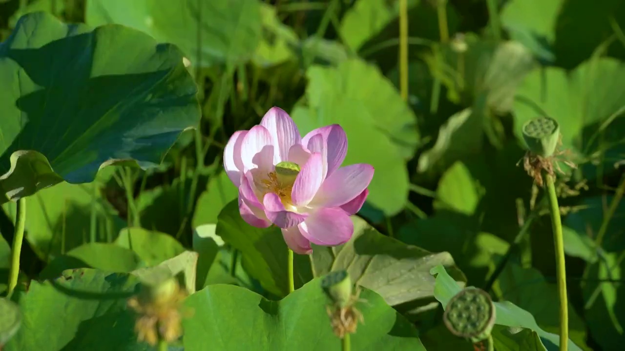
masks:
[(467, 287), (449, 300), (442, 320), (451, 334), (475, 343), (491, 334), (495, 306), (487, 292)]

